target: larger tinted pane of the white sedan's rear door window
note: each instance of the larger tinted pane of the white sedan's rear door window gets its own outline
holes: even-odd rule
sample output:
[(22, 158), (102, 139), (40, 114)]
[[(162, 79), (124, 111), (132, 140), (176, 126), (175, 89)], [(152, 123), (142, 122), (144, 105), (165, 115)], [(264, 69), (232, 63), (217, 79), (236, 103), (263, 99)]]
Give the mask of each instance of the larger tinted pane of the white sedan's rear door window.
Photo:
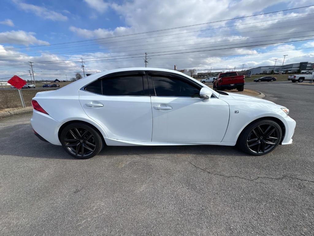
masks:
[(116, 76), (102, 79), (102, 94), (115, 96), (143, 96), (143, 76)]

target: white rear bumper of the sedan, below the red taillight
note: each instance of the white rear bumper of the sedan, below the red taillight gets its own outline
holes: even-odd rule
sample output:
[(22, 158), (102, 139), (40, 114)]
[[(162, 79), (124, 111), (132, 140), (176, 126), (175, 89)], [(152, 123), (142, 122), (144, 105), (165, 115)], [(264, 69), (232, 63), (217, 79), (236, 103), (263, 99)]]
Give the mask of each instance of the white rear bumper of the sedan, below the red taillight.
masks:
[(37, 137), (43, 141), (55, 145), (61, 145), (58, 137), (58, 131), (61, 123), (53, 119), (50, 115), (33, 110), (33, 116), (30, 119), (34, 131), (37, 133)]

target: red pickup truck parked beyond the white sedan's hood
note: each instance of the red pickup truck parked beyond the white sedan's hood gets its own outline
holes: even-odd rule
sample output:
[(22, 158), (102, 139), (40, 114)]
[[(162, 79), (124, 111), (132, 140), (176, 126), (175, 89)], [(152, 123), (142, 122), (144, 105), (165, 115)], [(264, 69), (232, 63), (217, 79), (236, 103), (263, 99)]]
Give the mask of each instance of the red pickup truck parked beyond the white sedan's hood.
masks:
[(230, 71), (225, 73), (220, 73), (217, 80), (214, 80), (214, 90), (224, 90), (224, 89), (237, 89), (238, 91), (243, 91), (244, 89), (245, 76), (238, 75), (236, 71)]

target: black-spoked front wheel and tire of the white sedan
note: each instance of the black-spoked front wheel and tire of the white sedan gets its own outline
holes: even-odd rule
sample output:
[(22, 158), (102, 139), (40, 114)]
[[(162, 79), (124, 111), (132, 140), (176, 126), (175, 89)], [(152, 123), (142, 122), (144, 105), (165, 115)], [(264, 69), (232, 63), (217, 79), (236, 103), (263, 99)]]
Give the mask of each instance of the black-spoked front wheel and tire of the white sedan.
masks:
[(277, 122), (270, 119), (257, 120), (243, 129), (237, 146), (250, 155), (261, 156), (273, 151), (281, 138), (282, 130)]

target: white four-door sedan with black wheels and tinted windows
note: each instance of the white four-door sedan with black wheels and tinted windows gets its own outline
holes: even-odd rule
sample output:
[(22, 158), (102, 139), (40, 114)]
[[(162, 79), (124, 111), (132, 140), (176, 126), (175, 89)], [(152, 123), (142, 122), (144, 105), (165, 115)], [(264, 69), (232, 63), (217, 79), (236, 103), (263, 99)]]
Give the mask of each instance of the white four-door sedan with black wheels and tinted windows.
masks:
[[(174, 70), (108, 70), (32, 100), (42, 140), (76, 158), (108, 146), (227, 145), (264, 155), (292, 143), (295, 121), (273, 102), (217, 92)], [(55, 104), (58, 104), (56, 106)], [(212, 119), (213, 125), (200, 119)]]

